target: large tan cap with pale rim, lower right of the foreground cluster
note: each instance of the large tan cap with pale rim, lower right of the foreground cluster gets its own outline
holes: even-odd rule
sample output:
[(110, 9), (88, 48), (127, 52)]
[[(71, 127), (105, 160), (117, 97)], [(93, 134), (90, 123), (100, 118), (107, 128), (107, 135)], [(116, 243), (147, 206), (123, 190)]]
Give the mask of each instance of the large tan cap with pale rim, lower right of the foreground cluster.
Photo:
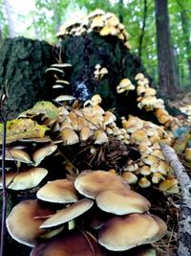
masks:
[(98, 233), (98, 243), (109, 250), (123, 251), (150, 244), (159, 232), (159, 224), (148, 214), (131, 214), (107, 221)]

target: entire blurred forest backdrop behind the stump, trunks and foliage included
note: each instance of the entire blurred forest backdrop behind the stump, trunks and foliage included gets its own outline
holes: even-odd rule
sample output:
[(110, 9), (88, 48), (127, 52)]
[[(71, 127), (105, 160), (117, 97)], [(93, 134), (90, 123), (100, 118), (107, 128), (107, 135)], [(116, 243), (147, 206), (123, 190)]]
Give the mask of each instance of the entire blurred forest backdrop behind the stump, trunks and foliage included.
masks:
[[(166, 13), (157, 12), (159, 4), (166, 6)], [(161, 91), (169, 94), (190, 85), (191, 0), (0, 0), (0, 40), (24, 35), (56, 43), (61, 24), (97, 8), (115, 12), (122, 20), (131, 36), (131, 52)], [(167, 25), (162, 25), (163, 14)], [(171, 78), (160, 81), (161, 69)]]

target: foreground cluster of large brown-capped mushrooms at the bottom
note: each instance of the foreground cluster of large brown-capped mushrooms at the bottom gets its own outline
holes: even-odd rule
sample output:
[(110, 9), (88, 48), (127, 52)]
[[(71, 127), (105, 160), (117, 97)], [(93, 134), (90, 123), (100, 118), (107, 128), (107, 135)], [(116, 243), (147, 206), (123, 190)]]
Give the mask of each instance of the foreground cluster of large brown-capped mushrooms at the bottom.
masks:
[[(36, 199), (14, 206), (6, 223), (14, 240), (33, 247), (31, 256), (110, 255), (166, 234), (165, 222), (149, 208), (119, 175), (87, 170), (73, 180), (48, 182)], [(143, 247), (143, 252), (148, 251)]]

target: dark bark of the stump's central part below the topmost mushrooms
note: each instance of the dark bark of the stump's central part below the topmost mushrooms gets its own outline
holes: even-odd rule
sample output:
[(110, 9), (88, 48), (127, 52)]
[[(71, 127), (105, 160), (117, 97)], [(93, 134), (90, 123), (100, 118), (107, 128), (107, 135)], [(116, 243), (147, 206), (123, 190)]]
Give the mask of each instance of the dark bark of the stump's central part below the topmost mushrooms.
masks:
[[(117, 116), (129, 113), (150, 119), (150, 113), (138, 109), (137, 93), (129, 91), (117, 94), (117, 84), (128, 78), (135, 85), (135, 76), (142, 72), (149, 77), (139, 59), (118, 40), (117, 36), (66, 35), (61, 41), (62, 59), (73, 64), (69, 76), (71, 87), (69, 93), (81, 100), (90, 99), (95, 93), (100, 94), (105, 109), (116, 109)], [(106, 67), (108, 74), (101, 81), (94, 75), (96, 64)], [(86, 89), (81, 90), (81, 87)]]

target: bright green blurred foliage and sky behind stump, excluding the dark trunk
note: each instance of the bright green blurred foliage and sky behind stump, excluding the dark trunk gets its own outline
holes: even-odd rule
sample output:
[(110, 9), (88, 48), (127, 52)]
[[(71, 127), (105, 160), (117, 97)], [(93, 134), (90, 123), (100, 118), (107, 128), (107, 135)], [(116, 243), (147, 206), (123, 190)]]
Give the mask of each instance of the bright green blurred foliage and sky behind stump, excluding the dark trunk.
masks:
[[(9, 36), (9, 22), (5, 12), (5, 5), (0, 0), (0, 28), (2, 37)], [(7, 0), (8, 1), (8, 0)], [(92, 12), (95, 9), (103, 9), (105, 12), (114, 12), (122, 19), (132, 45), (131, 52), (138, 55), (148, 73), (158, 84), (158, 55), (155, 22), (154, 0), (33, 0), (35, 8), (28, 15), (17, 15), (17, 20), (22, 24), (31, 21), (26, 30), (17, 35), (44, 39), (56, 43), (56, 32), (61, 24), (76, 15)], [(163, 2), (161, 0), (160, 2)], [(180, 3), (180, 4), (179, 4)], [(174, 69), (180, 74), (181, 87), (189, 84), (190, 54), (190, 25), (191, 1), (168, 0), (168, 14), (170, 20), (171, 46), (175, 55)], [(181, 14), (183, 12), (183, 14)], [(15, 16), (15, 13), (14, 13)], [(182, 22), (182, 20), (184, 20)], [(14, 20), (15, 29), (19, 28)], [(162, 28), (163, 29), (163, 28)], [(191, 68), (191, 67), (190, 67)], [(190, 71), (191, 72), (191, 71)], [(161, 88), (163, 89), (163, 88)]]

